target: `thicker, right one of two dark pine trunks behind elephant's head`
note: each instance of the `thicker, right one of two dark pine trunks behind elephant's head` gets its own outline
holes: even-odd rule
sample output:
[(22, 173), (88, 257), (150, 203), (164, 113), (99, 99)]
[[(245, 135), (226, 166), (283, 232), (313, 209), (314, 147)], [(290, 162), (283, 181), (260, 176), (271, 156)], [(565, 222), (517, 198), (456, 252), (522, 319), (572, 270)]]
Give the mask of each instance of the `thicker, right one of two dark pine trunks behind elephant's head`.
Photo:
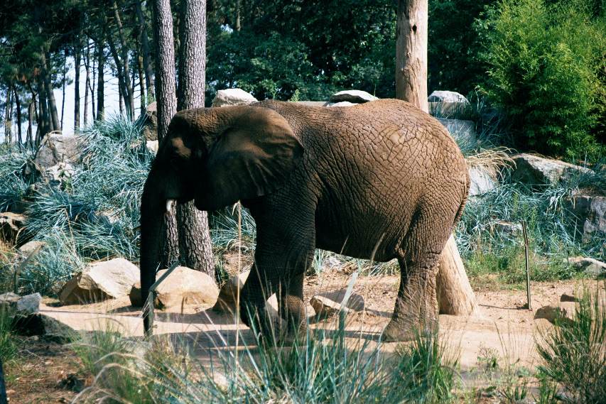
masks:
[[(204, 107), (206, 67), (206, 0), (181, 1), (177, 109)], [(181, 257), (189, 268), (215, 277), (208, 214), (193, 201), (177, 206)]]

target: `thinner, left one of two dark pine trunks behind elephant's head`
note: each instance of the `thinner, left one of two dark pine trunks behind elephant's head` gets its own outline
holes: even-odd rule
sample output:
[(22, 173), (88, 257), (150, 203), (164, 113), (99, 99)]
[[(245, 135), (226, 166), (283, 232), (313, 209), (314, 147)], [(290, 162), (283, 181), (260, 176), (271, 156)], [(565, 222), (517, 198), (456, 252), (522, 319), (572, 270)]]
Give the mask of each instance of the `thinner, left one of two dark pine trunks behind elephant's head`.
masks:
[[(168, 131), (168, 124), (177, 111), (175, 97), (175, 48), (173, 16), (169, 0), (153, 0), (153, 36), (156, 42), (156, 99), (158, 101), (158, 141)], [(163, 220), (163, 261), (179, 254), (175, 214)], [(166, 261), (164, 262), (166, 264)]]

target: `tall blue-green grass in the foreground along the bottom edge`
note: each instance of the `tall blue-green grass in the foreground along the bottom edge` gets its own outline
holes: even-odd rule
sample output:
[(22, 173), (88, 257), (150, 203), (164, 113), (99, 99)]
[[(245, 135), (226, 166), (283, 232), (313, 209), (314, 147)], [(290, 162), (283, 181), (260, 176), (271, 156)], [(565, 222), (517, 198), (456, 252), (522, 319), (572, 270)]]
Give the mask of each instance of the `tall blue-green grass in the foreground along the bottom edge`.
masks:
[[(343, 323), (342, 323), (343, 324)], [(435, 331), (396, 353), (372, 337), (347, 338), (345, 327), (308, 329), (293, 346), (259, 344), (239, 353), (210, 349), (198, 361), (183, 340), (151, 346), (114, 337), (90, 339), (78, 354), (94, 382), (79, 400), (120, 403), (444, 403), (453, 398), (453, 361)], [(123, 339), (124, 340), (124, 339)], [(79, 402), (80, 402), (79, 401)]]

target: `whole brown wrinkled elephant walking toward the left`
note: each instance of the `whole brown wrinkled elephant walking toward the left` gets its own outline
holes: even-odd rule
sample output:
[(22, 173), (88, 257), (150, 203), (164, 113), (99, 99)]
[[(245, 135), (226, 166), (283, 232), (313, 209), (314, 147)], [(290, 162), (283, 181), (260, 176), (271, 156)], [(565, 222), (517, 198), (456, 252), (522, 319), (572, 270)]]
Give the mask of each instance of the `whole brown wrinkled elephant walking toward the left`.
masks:
[(240, 297), (246, 324), (269, 334), (264, 302), (277, 293), (290, 331), (303, 327), (303, 277), (315, 249), (371, 258), (377, 246), (375, 261), (398, 258), (401, 267), (384, 337), (407, 340), (437, 319), (438, 259), (469, 183), (443, 126), (399, 100), (180, 111), (141, 200), (141, 292), (155, 279), (167, 199), (193, 199), (201, 210), (241, 200), (257, 229), (255, 267)]

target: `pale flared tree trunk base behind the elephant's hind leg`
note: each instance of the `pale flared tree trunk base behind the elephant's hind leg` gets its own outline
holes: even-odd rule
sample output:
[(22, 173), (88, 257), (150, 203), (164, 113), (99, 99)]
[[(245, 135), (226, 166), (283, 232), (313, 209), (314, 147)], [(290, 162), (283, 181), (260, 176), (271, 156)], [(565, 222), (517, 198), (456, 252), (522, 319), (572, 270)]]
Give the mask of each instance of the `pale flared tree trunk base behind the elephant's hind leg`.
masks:
[(440, 313), (445, 315), (469, 315), (476, 306), (475, 295), (465, 273), (463, 261), (455, 243), (450, 236), (442, 256), (440, 269), (435, 278), (438, 292)]

